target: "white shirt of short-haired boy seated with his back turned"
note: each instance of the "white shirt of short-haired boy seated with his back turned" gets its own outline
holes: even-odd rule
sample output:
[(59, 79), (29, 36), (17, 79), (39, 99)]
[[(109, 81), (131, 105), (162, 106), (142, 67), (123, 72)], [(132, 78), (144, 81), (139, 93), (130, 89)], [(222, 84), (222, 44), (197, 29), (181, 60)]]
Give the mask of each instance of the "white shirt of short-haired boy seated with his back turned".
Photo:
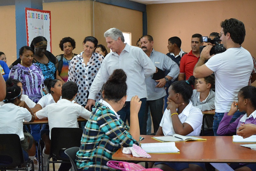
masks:
[(61, 99), (36, 112), (36, 115), (39, 119), (48, 117), (51, 138), (52, 128), (78, 128), (77, 118), (81, 116), (88, 120), (91, 112), (79, 104)]

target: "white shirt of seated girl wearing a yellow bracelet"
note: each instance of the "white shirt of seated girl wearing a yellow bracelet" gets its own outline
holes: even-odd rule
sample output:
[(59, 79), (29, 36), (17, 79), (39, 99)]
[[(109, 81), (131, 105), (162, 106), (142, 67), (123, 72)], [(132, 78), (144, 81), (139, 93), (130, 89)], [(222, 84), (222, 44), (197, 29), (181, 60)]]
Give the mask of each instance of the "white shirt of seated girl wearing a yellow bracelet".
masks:
[[(193, 106), (191, 101), (189, 101), (189, 104), (179, 114), (179, 118), (181, 123), (185, 122), (192, 126), (194, 131), (188, 134), (188, 136), (199, 136), (203, 122), (203, 114), (200, 109)], [(165, 110), (160, 126), (162, 127), (165, 136), (172, 136), (176, 134), (173, 129), (170, 110)]]

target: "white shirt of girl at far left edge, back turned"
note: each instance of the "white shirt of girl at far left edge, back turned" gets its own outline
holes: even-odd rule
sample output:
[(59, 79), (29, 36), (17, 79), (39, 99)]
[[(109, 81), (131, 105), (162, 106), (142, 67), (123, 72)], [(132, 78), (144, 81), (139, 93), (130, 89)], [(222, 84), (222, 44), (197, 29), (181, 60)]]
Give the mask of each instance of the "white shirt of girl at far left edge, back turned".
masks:
[(32, 115), (23, 108), (13, 103), (6, 103), (0, 107), (0, 134), (17, 134), (24, 140), (23, 119), (31, 121)]

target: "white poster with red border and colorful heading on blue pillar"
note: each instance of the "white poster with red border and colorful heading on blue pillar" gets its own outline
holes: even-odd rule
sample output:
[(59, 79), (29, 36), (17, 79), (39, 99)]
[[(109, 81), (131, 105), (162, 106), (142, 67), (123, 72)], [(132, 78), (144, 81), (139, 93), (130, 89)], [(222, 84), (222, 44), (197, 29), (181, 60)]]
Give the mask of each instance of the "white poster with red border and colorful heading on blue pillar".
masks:
[(47, 50), (51, 52), (51, 11), (25, 8), (25, 13), (27, 46), (35, 37), (43, 36), (47, 39)]

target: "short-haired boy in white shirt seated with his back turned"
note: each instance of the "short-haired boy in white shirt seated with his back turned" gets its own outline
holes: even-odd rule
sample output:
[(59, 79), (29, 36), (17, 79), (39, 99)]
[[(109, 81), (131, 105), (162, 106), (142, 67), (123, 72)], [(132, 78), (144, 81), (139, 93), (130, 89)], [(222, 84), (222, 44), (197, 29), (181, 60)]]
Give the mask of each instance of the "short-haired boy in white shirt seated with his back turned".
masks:
[[(50, 139), (52, 128), (78, 128), (78, 117), (82, 117), (87, 120), (89, 119), (91, 112), (86, 110), (81, 105), (72, 102), (76, 97), (77, 91), (78, 87), (74, 82), (66, 82), (65, 84), (63, 84), (61, 90), (62, 99), (59, 100), (57, 103), (49, 104), (42, 110), (36, 112), (36, 119), (48, 118)], [(47, 165), (47, 159), (49, 157), (49, 154), (46, 154), (46, 148), (50, 149), (50, 147), (45, 147), (43, 150), (43, 171), (45, 171), (45, 166)], [(68, 171), (70, 167), (71, 164), (62, 163), (59, 168), (59, 171)]]

